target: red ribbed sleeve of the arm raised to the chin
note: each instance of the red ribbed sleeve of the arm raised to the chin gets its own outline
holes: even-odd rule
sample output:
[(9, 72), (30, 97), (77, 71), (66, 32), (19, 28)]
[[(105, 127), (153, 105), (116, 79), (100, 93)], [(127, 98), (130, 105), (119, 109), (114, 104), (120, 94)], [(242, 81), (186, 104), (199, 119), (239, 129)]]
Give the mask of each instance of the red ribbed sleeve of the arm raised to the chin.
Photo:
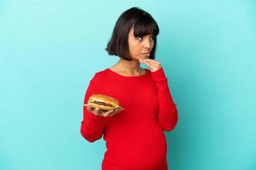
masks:
[(167, 84), (167, 78), (164, 75), (163, 68), (156, 72), (151, 72), (151, 75), (157, 85), (159, 98), (159, 113), (157, 121), (164, 131), (171, 131), (174, 129), (178, 121), (177, 108)]

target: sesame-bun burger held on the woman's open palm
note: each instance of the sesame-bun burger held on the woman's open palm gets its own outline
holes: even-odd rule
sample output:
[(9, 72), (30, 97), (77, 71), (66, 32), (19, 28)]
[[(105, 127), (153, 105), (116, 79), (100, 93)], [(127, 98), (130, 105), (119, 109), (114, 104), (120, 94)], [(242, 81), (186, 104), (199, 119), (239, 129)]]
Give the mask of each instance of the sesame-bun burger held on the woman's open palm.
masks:
[(88, 100), (88, 105), (93, 107), (99, 107), (101, 109), (114, 109), (119, 107), (119, 102), (112, 97), (102, 94), (93, 94)]

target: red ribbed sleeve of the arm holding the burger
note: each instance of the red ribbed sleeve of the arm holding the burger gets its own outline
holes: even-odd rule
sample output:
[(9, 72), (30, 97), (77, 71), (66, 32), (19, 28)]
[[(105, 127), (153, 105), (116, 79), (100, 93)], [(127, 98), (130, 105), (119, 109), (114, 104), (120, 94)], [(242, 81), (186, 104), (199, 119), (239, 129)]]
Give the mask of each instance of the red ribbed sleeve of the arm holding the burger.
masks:
[[(85, 94), (84, 104), (88, 102), (92, 94), (97, 94), (97, 86), (90, 81), (90, 85)], [(81, 122), (81, 134), (89, 142), (101, 139), (103, 135), (105, 117), (96, 116), (83, 107), (83, 121)]]

